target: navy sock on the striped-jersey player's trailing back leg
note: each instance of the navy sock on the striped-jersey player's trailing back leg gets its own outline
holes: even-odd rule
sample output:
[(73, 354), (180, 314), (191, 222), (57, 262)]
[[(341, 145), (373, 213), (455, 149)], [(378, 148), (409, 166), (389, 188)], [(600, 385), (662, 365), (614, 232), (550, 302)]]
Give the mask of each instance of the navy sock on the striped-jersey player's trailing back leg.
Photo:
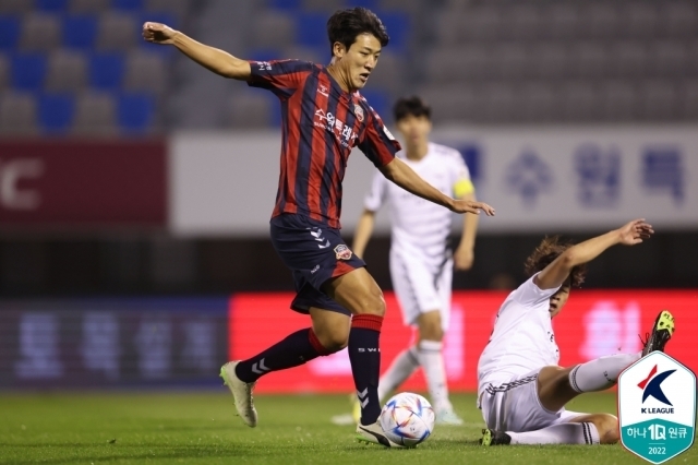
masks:
[(312, 329), (297, 331), (285, 339), (236, 367), (236, 374), (245, 383), (258, 380), (272, 371), (298, 367), (321, 355), (329, 355)]

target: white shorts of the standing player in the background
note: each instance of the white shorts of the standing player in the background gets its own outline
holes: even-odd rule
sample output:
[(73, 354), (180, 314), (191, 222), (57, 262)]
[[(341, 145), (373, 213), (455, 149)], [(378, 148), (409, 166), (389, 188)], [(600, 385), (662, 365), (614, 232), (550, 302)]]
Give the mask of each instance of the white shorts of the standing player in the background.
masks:
[(438, 310), (441, 326), (444, 332), (448, 331), (453, 276), (450, 258), (434, 273), (422, 261), (390, 251), (390, 278), (405, 324), (414, 325), (420, 314)]

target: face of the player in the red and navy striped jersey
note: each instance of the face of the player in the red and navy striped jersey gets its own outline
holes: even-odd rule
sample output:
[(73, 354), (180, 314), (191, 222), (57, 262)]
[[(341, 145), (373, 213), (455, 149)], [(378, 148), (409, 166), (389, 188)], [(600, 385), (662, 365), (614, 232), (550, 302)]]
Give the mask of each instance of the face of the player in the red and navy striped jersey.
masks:
[(373, 34), (359, 34), (349, 50), (344, 46), (335, 46), (335, 56), (342, 70), (350, 91), (363, 88), (369, 75), (378, 63), (381, 41)]

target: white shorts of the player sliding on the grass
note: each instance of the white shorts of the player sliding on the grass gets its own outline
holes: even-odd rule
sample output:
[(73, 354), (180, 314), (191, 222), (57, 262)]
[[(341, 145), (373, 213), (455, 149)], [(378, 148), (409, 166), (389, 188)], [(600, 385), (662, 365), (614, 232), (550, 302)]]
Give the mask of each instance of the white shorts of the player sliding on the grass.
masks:
[(481, 394), (480, 407), (488, 428), (496, 431), (535, 431), (565, 424), (581, 414), (564, 407), (551, 412), (538, 397), (538, 372), (531, 371), (497, 386), (490, 385)]

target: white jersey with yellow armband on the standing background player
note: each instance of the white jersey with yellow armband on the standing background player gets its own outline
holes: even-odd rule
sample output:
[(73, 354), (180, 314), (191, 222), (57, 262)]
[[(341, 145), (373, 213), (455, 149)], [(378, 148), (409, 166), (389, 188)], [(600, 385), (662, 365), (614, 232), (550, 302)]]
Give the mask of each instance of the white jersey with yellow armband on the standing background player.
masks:
[[(454, 148), (430, 142), (426, 155), (419, 162), (407, 159), (404, 152), (396, 156), (446, 195), (460, 196), (473, 190), (468, 167)], [(444, 260), (450, 211), (407, 192), (376, 172), (364, 206), (375, 212), (386, 201), (390, 205), (393, 252), (421, 258), (435, 271)]]

